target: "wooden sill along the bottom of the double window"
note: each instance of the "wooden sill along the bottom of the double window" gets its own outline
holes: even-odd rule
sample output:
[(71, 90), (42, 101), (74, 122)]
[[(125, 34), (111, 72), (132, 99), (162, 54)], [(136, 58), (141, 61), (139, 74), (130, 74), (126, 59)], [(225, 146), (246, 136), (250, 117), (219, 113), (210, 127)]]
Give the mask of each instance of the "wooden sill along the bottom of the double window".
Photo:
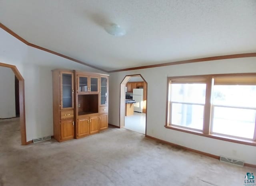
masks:
[(172, 130), (176, 130), (176, 131), (180, 131), (180, 132), (186, 132), (186, 133), (190, 133), (190, 134), (200, 135), (200, 136), (204, 136), (204, 137), (210, 137), (210, 138), (219, 139), (219, 140), (222, 140), (222, 141), (228, 141), (228, 142), (232, 142), (232, 143), (239, 143), (239, 144), (243, 144), (243, 145), (256, 146), (256, 141), (250, 141), (250, 140), (246, 140), (246, 139), (238, 139), (238, 138), (215, 135), (215, 134), (204, 134), (200, 131), (194, 131), (192, 129), (191, 130), (182, 129), (180, 127), (173, 127), (173, 126), (166, 126), (166, 125), (164, 127), (166, 127), (167, 129), (172, 129)]

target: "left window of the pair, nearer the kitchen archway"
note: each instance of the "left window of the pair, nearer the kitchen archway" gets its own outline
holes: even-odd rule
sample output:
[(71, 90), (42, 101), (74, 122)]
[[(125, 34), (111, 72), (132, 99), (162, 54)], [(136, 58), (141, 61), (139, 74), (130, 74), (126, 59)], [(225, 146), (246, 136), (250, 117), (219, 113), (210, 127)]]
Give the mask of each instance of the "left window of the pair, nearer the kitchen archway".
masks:
[(206, 82), (194, 79), (190, 82), (172, 80), (170, 97), (170, 121), (172, 125), (203, 129)]

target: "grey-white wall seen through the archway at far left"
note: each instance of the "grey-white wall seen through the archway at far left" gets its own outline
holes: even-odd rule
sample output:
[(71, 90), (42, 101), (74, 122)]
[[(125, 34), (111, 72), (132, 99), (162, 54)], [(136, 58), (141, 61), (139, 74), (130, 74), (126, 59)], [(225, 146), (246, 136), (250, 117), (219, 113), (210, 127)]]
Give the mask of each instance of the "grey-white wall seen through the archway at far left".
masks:
[(15, 116), (15, 76), (10, 68), (0, 67), (0, 118)]

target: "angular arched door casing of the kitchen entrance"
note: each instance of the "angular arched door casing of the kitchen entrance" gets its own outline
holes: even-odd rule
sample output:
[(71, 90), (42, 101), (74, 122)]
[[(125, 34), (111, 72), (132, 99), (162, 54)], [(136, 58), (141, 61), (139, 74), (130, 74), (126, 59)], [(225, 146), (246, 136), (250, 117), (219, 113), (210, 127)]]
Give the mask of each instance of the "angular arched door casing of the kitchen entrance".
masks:
[[(145, 112), (146, 112), (146, 126), (147, 126), (147, 89), (148, 89), (148, 83), (146, 82), (146, 80), (143, 78), (143, 76), (141, 74), (132, 74), (132, 75), (126, 75), (124, 77), (124, 79), (122, 80), (121, 84), (120, 84), (120, 128), (124, 127), (124, 123), (125, 123), (125, 109), (126, 109), (126, 103), (125, 103), (125, 99), (126, 99), (126, 83), (130, 80), (131, 77), (138, 77), (140, 76), (142, 78), (142, 80), (144, 81), (144, 89), (146, 91), (144, 91), (144, 105), (146, 106), (145, 108)], [(145, 128), (145, 135), (146, 135), (146, 129)]]

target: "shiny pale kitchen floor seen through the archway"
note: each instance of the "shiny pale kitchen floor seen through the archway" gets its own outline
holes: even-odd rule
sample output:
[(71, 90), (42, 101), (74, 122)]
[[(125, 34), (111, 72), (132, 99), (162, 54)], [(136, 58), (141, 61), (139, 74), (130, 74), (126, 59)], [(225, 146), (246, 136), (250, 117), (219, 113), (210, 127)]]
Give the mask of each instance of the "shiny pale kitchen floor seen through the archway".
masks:
[(146, 114), (134, 112), (132, 116), (125, 116), (124, 128), (138, 133), (145, 134), (146, 131)]

